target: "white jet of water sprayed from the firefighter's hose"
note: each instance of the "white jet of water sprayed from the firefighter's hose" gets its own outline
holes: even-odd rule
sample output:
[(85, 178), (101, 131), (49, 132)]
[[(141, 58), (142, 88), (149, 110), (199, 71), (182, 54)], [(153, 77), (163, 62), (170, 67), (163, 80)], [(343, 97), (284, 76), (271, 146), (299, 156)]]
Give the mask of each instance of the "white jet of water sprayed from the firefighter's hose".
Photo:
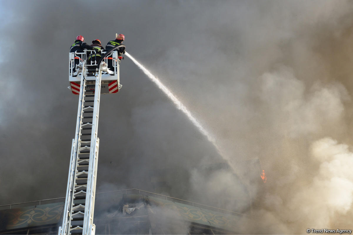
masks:
[(160, 88), (164, 94), (168, 96), (168, 98), (173, 101), (175, 106), (180, 109), (186, 116), (189, 118), (189, 120), (195, 125), (198, 130), (206, 136), (208, 141), (210, 141), (213, 146), (216, 148), (217, 152), (223, 157), (223, 159), (227, 159), (226, 155), (221, 151), (221, 148), (217, 145), (216, 140), (213, 138), (213, 136), (206, 131), (205, 128), (201, 126), (201, 124), (196, 120), (196, 118), (190, 113), (190, 111), (184, 106), (183, 103), (179, 101), (179, 99), (170, 91), (157, 77), (155, 77), (148, 69), (146, 69), (142, 64), (140, 64), (135, 58), (133, 58), (129, 53), (125, 53), (127, 57), (129, 57), (138, 67), (141, 69), (145, 75), (150, 78), (152, 82), (154, 82), (158, 88)]

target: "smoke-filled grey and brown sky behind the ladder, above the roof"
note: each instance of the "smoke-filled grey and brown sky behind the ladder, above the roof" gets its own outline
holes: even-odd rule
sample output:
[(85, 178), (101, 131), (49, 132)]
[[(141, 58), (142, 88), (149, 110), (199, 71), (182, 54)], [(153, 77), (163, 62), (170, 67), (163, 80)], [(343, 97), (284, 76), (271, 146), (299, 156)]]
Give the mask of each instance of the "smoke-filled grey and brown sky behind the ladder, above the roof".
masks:
[(225, 154), (125, 56), (122, 89), (101, 96), (97, 192), (153, 191), (164, 172), (159, 193), (261, 217), (244, 234), (352, 229), (352, 1), (0, 4), (0, 204), (65, 196), (68, 50), (123, 33)]

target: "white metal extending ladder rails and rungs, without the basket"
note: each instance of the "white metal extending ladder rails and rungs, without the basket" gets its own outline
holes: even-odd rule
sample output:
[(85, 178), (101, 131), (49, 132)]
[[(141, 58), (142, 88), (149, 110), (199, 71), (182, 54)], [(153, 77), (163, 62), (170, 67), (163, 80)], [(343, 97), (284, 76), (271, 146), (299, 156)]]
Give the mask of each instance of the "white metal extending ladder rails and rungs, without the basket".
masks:
[(95, 234), (93, 214), (98, 163), (97, 131), (102, 66), (96, 73), (96, 81), (92, 85), (86, 84), (86, 70), (86, 66), (83, 66), (64, 217), (62, 226), (59, 227), (59, 234)]

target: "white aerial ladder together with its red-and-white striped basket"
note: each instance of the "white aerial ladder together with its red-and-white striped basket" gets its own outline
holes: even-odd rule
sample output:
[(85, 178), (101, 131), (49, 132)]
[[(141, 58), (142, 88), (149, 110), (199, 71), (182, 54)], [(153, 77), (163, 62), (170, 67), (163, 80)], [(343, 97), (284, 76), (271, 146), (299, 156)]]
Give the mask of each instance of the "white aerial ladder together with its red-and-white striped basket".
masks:
[[(93, 215), (99, 148), (97, 132), (100, 95), (117, 93), (122, 87), (119, 76), (120, 60), (116, 51), (119, 47), (125, 46), (102, 51), (101, 56), (90, 50), (69, 54), (68, 88), (73, 94), (79, 95), (79, 99), (64, 215), (58, 234), (95, 234)], [(90, 55), (95, 59), (88, 60)]]

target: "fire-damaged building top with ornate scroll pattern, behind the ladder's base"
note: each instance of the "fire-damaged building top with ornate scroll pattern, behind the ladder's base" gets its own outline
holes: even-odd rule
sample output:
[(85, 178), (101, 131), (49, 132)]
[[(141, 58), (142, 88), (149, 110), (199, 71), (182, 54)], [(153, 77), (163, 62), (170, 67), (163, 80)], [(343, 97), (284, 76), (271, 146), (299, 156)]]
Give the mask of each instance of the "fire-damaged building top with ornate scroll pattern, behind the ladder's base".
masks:
[[(57, 234), (61, 200), (1, 206), (0, 234)], [(95, 202), (97, 234), (234, 234), (244, 220), (251, 217), (138, 189), (97, 193)]]

